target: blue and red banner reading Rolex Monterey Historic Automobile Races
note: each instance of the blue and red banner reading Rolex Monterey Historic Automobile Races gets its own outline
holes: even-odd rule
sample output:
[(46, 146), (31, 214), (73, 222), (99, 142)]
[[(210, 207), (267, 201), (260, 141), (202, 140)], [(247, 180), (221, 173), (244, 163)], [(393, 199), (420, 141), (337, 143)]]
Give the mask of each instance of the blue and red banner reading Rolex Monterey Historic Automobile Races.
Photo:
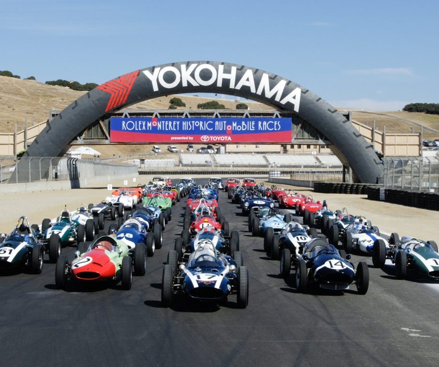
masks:
[(112, 142), (291, 142), (291, 118), (111, 117)]

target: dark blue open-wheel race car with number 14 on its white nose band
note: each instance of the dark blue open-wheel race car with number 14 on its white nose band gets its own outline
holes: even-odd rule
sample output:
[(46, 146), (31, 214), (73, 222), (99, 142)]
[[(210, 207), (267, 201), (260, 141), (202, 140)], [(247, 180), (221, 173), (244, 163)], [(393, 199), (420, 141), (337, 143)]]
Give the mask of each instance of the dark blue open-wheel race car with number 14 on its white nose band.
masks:
[[(288, 249), (282, 251), (282, 257), (288, 259), (291, 254)], [(303, 248), (296, 264), (296, 289), (304, 293), (310, 283), (316, 283), (319, 288), (326, 290), (347, 290), (355, 283), (360, 294), (366, 294), (369, 288), (369, 269), (364, 261), (360, 261), (357, 269), (354, 264), (341, 257), (339, 251), (321, 238), (314, 238)], [(280, 262), (280, 272), (288, 275), (290, 268), (283, 268)]]

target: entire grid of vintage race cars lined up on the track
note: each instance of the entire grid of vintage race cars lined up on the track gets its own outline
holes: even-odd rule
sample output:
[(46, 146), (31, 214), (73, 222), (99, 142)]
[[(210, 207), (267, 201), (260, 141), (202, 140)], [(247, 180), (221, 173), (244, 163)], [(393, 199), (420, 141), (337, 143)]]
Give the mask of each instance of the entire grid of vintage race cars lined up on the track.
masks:
[[(220, 302), (236, 295), (238, 307), (245, 308), (249, 270), (239, 251), (239, 232), (230, 231), (221, 213), (219, 190), (248, 217), (251, 235), (263, 238), (260, 244), (267, 256), (279, 261), (279, 274), (284, 278), (294, 274), (298, 292), (310, 287), (347, 290), (355, 285), (365, 294), (368, 266), (364, 261), (354, 266), (349, 261), (352, 252), (369, 254), (379, 268), (389, 260), (399, 279), (406, 277), (407, 270), (439, 279), (434, 240), (398, 233), (385, 238), (361, 213), (330, 210), (326, 200), (312, 195), (233, 177), (225, 182), (211, 177), (201, 186), (192, 177), (173, 185), (169, 177), (157, 176), (145, 185), (114, 190), (99, 204), (80, 204), (74, 211), (63, 208), (58, 217), (45, 218), (41, 224), (31, 225), (21, 216), (10, 234), (0, 234), (0, 270), (20, 268), (38, 274), (47, 254), (56, 263), (59, 289), (106, 281), (129, 290), (133, 273), (144, 275), (147, 258), (160, 250), (172, 208), (187, 197), (181, 235), (162, 270), (162, 306), (169, 307), (181, 297)], [(105, 232), (106, 221), (111, 224)], [(72, 244), (77, 250), (69, 261), (62, 249)]]

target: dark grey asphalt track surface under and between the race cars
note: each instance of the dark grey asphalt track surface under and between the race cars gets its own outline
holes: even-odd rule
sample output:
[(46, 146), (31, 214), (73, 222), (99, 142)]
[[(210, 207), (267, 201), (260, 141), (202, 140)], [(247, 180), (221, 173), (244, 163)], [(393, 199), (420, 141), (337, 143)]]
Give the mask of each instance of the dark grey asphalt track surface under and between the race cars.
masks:
[[(202, 180), (198, 180), (202, 183)], [(100, 199), (100, 198), (97, 198)], [(294, 272), (285, 282), (279, 261), (266, 257), (263, 238), (247, 232), (247, 217), (220, 192), (219, 204), (240, 234), (250, 274), (249, 304), (236, 296), (214, 304), (181, 299), (160, 306), (167, 251), (182, 230), (185, 199), (173, 208), (163, 247), (147, 272), (120, 285), (55, 287), (55, 264), (40, 275), (0, 276), (1, 366), (437, 366), (436, 282), (372, 267), (366, 295), (351, 290), (297, 293)], [(110, 223), (106, 222), (106, 228)], [(74, 247), (63, 249), (69, 260)]]

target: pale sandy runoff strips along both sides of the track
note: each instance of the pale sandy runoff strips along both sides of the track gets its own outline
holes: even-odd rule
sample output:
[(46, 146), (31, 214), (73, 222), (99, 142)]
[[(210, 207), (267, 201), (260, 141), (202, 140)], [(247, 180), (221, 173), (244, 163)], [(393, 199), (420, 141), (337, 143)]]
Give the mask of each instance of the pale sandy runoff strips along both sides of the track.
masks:
[[(127, 181), (129, 184), (137, 186), (138, 183), (146, 183), (151, 178), (152, 175), (140, 175), (134, 183), (132, 178), (129, 177), (127, 177)], [(175, 179), (177, 177), (171, 175), (171, 178)], [(258, 182), (266, 180), (266, 176), (255, 176), (255, 178)], [(267, 181), (264, 182), (268, 186), (271, 185)], [(73, 211), (81, 203), (96, 204), (97, 200), (103, 200), (111, 193), (107, 190), (107, 184), (109, 183), (115, 188), (124, 186), (123, 180), (116, 180), (93, 183), (82, 189), (0, 194), (3, 208), (5, 208), (0, 213), (0, 232), (9, 233), (12, 231), (20, 215), (26, 215), (31, 224), (41, 224), (44, 215), (51, 213), (51, 219), (55, 218), (64, 208), (64, 205), (67, 206), (68, 210)], [(368, 200), (366, 195), (314, 193), (308, 188), (287, 185), (277, 186), (304, 194), (312, 194), (317, 200), (326, 199), (329, 209), (341, 210), (346, 207), (349, 213), (364, 215), (373, 225), (379, 227), (380, 232), (387, 234), (398, 232), (399, 236), (410, 235), (423, 240), (439, 241), (436, 227), (439, 223), (438, 211)]]

